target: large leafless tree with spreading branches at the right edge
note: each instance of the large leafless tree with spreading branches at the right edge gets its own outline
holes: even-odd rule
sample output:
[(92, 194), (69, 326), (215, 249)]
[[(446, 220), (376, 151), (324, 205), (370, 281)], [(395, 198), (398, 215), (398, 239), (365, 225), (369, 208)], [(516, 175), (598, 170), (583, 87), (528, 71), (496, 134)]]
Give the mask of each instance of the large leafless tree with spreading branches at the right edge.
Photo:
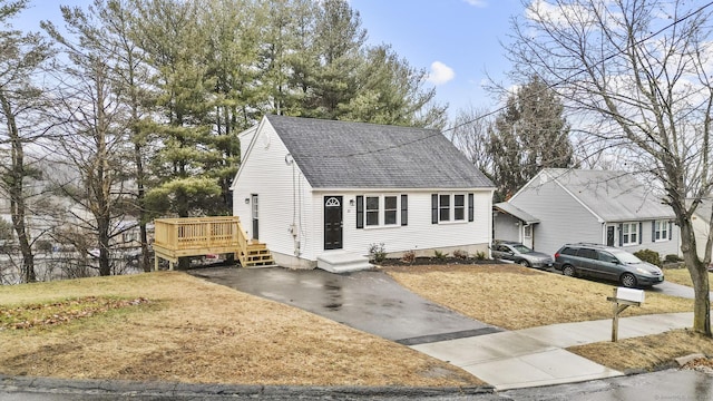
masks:
[[(695, 290), (693, 329), (711, 336), (713, 227), (696, 253), (692, 216), (711, 182), (712, 4), (682, 0), (534, 0), (512, 20), (509, 57), (589, 120), (594, 154), (652, 179), (681, 228)], [(580, 128), (582, 129), (582, 128)], [(587, 129), (587, 128), (585, 128)], [(595, 146), (596, 145), (596, 146)]]

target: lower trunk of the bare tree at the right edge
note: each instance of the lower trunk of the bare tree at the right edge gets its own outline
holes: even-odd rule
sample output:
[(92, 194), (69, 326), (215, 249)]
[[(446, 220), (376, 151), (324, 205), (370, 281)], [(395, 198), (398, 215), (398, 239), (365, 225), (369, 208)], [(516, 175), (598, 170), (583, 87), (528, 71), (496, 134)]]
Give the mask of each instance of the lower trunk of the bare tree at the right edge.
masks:
[[(682, 238), (691, 238), (695, 235), (691, 222), (683, 222), (681, 225)], [(695, 244), (693, 242), (682, 241), (682, 244)], [(682, 245), (683, 260), (693, 281), (693, 291), (695, 292), (695, 302), (693, 304), (693, 331), (696, 333), (712, 336), (711, 333), (711, 296), (709, 273), (704, 263), (701, 262), (694, 246)]]

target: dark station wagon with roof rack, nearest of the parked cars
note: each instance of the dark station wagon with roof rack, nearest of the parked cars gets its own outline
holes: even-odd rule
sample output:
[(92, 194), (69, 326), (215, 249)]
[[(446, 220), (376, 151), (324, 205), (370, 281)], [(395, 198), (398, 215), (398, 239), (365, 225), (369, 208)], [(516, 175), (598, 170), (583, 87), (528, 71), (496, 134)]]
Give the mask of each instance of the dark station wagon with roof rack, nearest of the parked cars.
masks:
[(590, 276), (616, 281), (625, 287), (664, 282), (664, 273), (631, 253), (599, 244), (566, 244), (555, 254), (555, 270), (566, 276)]

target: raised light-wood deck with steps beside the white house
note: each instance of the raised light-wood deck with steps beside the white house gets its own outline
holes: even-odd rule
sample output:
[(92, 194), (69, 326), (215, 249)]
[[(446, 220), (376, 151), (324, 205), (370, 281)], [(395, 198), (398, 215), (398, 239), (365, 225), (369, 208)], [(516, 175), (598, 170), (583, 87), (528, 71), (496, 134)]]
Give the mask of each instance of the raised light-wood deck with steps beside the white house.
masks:
[(274, 265), (267, 246), (247, 239), (237, 216), (158, 218), (154, 224), (154, 270), (158, 258), (173, 270), (183, 256), (231, 253), (243, 267)]

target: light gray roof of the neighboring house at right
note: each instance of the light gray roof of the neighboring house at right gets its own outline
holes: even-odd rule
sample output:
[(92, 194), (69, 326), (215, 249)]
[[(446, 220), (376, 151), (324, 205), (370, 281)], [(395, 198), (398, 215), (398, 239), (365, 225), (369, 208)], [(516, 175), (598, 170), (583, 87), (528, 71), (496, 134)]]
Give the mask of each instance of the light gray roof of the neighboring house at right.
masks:
[(675, 217), (652, 186), (642, 184), (631, 173), (567, 168), (547, 168), (543, 173), (606, 222)]

